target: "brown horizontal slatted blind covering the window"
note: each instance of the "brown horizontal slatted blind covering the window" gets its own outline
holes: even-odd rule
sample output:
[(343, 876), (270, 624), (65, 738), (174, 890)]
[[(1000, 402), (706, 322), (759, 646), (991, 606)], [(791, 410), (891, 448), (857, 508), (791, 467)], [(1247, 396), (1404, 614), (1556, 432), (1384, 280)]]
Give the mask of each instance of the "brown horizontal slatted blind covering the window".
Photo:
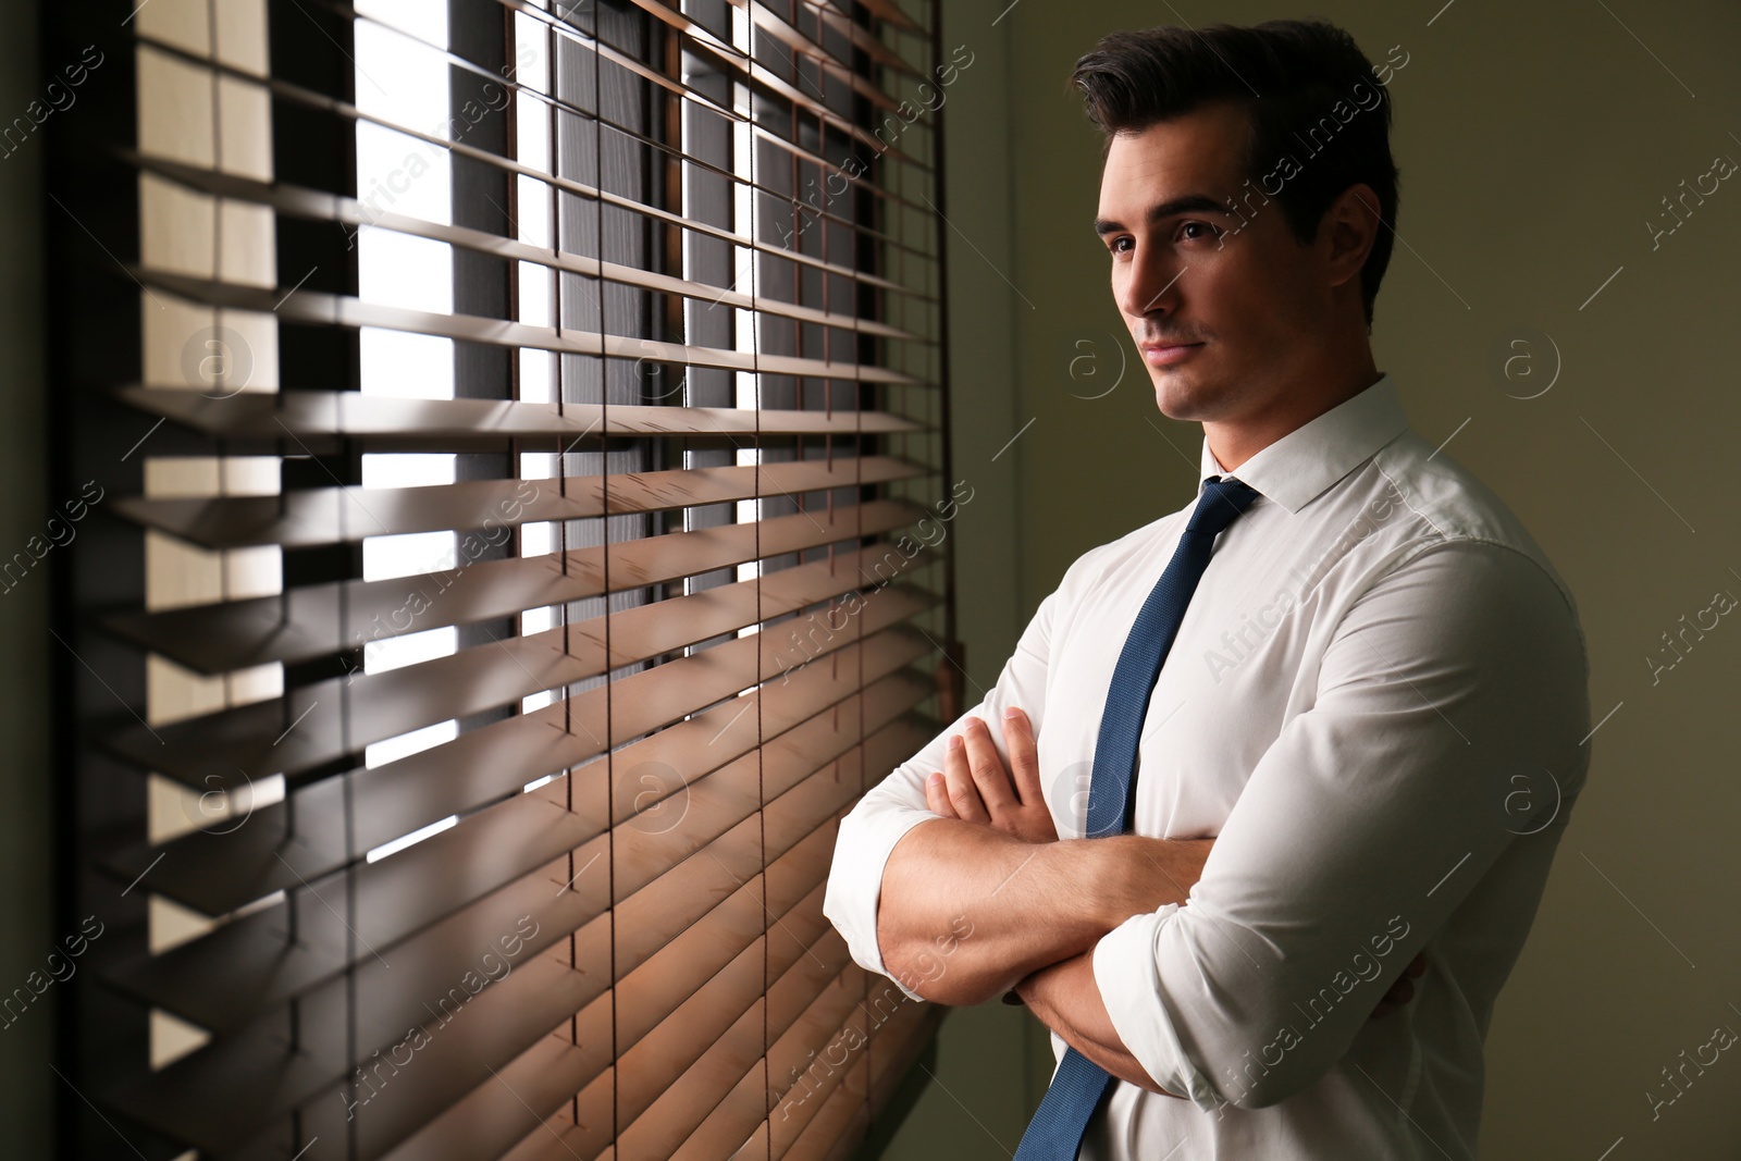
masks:
[(80, 1133), (848, 1156), (937, 1013), (834, 827), (961, 707), (935, 3), (94, 7)]

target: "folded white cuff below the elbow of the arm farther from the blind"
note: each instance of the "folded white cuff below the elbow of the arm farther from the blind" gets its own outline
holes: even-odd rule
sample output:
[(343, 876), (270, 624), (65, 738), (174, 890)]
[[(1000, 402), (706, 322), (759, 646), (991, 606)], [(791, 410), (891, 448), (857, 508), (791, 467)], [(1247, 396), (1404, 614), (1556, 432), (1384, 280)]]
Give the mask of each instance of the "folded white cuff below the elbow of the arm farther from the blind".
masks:
[(1170, 1093), (1184, 1093), (1203, 1112), (1215, 1112), (1227, 1102), (1186, 1055), (1158, 970), (1156, 940), (1177, 910), (1179, 903), (1166, 903), (1104, 935), (1093, 949), (1093, 980), (1112, 1029), (1149, 1077)]

